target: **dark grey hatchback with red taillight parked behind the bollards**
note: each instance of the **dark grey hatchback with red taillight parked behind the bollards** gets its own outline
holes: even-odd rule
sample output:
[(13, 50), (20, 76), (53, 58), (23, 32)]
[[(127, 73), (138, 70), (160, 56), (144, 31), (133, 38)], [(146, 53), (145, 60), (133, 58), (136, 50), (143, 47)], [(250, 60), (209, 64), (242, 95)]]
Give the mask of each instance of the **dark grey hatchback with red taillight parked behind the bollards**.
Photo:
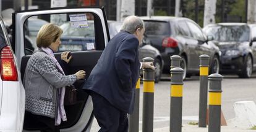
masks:
[(182, 57), (181, 68), (184, 76), (199, 73), (199, 56), (210, 56), (210, 73), (220, 69), (220, 50), (203, 34), (200, 26), (189, 18), (151, 16), (141, 17), (145, 22), (145, 34), (151, 45), (158, 49), (164, 60), (163, 72), (169, 73), (170, 56)]

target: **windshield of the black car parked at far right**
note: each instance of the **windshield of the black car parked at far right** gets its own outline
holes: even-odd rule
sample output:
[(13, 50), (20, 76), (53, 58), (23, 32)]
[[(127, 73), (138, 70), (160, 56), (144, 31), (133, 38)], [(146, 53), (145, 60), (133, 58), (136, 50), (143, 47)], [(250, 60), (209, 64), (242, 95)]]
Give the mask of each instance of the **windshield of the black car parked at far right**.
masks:
[(213, 36), (215, 41), (243, 42), (249, 41), (250, 29), (247, 25), (215, 25), (205, 29), (207, 35)]

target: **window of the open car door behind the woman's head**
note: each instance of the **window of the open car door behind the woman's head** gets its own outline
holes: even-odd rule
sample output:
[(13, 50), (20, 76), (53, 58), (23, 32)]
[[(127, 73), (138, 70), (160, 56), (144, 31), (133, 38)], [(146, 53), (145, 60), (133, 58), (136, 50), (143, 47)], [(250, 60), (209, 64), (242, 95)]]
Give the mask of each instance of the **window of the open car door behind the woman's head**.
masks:
[(30, 55), (35, 49), (38, 49), (36, 36), (41, 26), (46, 23), (54, 23), (63, 30), (58, 52), (96, 50), (93, 14), (38, 15), (28, 18), (24, 25), (25, 51), (30, 51), (30, 53), (25, 52), (26, 55)]

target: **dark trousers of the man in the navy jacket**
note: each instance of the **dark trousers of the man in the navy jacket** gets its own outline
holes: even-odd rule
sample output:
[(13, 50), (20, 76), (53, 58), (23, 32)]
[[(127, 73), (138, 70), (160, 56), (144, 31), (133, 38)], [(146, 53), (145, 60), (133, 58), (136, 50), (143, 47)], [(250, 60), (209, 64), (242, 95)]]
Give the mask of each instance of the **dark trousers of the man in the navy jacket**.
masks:
[(111, 105), (103, 96), (90, 92), (93, 101), (93, 111), (99, 126), (99, 132), (127, 132), (127, 113)]

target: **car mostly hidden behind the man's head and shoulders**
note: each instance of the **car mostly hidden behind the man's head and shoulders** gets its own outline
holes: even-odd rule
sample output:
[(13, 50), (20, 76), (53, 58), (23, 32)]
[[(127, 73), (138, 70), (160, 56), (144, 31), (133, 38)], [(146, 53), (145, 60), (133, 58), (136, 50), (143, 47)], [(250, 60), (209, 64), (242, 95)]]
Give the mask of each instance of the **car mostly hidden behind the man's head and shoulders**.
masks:
[[(121, 29), (122, 23), (119, 21), (108, 21), (109, 35), (110, 38), (114, 37), (117, 33), (119, 33)], [(148, 37), (144, 35), (142, 44), (139, 46), (139, 60), (142, 61), (145, 57), (151, 57), (154, 59), (155, 66), (155, 82), (159, 82), (161, 80), (161, 74), (163, 70), (163, 59), (161, 57), (160, 52), (153, 46), (150, 45)], [(142, 76), (143, 72), (140, 70), (140, 75)]]

